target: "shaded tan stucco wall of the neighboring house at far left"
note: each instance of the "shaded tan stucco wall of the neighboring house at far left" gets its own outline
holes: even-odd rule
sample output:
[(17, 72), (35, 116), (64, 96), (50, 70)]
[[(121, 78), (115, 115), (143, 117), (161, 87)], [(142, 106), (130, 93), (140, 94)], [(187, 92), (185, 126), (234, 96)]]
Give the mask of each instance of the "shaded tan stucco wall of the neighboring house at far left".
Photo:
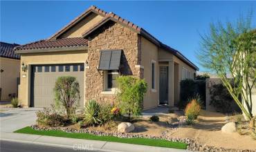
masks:
[(19, 77), (19, 59), (8, 59), (0, 57), (0, 69), (3, 73), (0, 73), (0, 88), (1, 100), (10, 100), (8, 96), (10, 93), (16, 93), (17, 95), (17, 77)]

